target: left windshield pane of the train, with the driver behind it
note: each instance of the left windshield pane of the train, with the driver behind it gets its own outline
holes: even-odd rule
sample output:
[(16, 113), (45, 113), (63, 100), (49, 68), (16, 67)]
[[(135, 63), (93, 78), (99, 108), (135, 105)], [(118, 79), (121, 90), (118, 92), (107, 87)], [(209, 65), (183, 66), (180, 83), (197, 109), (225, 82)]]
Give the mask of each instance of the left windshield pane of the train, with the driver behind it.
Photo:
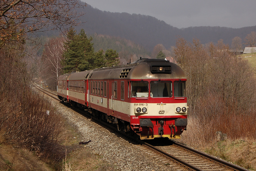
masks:
[(148, 82), (131, 81), (130, 97), (148, 97)]

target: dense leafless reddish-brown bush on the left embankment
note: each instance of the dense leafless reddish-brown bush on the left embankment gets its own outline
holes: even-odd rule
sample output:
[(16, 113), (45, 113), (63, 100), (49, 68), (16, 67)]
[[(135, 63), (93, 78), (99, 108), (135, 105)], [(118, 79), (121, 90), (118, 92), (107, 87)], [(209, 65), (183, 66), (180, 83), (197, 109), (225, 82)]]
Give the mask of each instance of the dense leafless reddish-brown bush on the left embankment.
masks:
[(54, 159), (63, 157), (60, 133), (64, 129), (64, 121), (45, 96), (27, 87), (2, 97), (0, 130), (6, 143)]

